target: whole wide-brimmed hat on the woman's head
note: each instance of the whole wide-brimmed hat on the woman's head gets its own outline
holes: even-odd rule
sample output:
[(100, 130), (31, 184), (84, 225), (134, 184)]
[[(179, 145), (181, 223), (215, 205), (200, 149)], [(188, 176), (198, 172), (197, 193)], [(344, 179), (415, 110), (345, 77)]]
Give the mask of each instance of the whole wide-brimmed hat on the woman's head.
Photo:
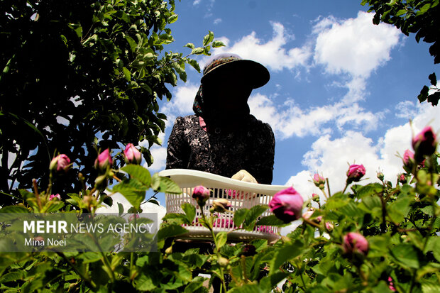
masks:
[(201, 82), (215, 82), (216, 77), (224, 73), (251, 84), (253, 89), (263, 87), (270, 79), (268, 69), (260, 63), (242, 59), (236, 54), (225, 53), (211, 57), (204, 67)]

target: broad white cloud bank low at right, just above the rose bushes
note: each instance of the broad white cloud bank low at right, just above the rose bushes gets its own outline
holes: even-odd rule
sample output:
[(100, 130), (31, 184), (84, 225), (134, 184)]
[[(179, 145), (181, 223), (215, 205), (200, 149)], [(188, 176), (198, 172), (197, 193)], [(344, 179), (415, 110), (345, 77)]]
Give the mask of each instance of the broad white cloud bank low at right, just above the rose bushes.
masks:
[(330, 135), (317, 139), (303, 157), (302, 164), (305, 170), (290, 177), (287, 185), (293, 184), (301, 194), (310, 196), (319, 190), (307, 180), (314, 172), (322, 173), (329, 178), (331, 192), (338, 192), (345, 186), (345, 174), (348, 164), (363, 164), (367, 173), (367, 182), (377, 182), (376, 172), (381, 170), (385, 179), (395, 184), (397, 174), (404, 172), (402, 160), (396, 156), (411, 149), (412, 130), (418, 133), (424, 126), (431, 125), (434, 131), (440, 129), (438, 109), (430, 104), (418, 104), (417, 116), (414, 116), (412, 127), (405, 123), (390, 128), (382, 138), (376, 142), (365, 137), (358, 131), (347, 131), (340, 138), (331, 138)]

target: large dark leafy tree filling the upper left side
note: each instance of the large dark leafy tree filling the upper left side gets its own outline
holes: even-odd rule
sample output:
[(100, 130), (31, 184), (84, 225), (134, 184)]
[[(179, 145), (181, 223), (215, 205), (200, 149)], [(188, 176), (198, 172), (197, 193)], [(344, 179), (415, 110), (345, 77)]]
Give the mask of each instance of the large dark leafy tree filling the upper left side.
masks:
[[(174, 0), (5, 0), (0, 10), (0, 191), (14, 196), (33, 178), (48, 184), (56, 151), (79, 167), (57, 179), (55, 192), (65, 194), (80, 188), (70, 186), (79, 172), (93, 184), (89, 154), (160, 144), (158, 99), (170, 100), (167, 86), (185, 82), (185, 65), (200, 70), (189, 55), (223, 45), (209, 32), (201, 48), (187, 44), (187, 56), (165, 51)], [(141, 153), (150, 165), (148, 148)]]

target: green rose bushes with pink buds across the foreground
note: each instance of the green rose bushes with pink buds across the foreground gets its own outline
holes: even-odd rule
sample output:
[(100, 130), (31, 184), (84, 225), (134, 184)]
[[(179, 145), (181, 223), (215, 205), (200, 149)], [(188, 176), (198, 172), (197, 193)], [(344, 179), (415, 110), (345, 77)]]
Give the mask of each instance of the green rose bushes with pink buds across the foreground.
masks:
[[(439, 292), (439, 154), (432, 153), (435, 148), (427, 153), (427, 144), (436, 146), (435, 136), (431, 140), (414, 138), (417, 155), (405, 152), (405, 173), (395, 184), (384, 181), (383, 174), (378, 173), (378, 182), (362, 185), (361, 181), (353, 182), (347, 172), (344, 191), (331, 194), (329, 179), (320, 175), (326, 182), (319, 184), (323, 187), (321, 201), (316, 194), (314, 207), (312, 199), (306, 201), (304, 207), (312, 213), (304, 213), (299, 226), (276, 243), (256, 239), (231, 245), (227, 231), (214, 231), (216, 214), (212, 206), (210, 216), (202, 214), (197, 225), (211, 232), (213, 252), (202, 253), (198, 248), (173, 251), (172, 240), (187, 232), (182, 225), (194, 223), (199, 209), (182, 204), (184, 214), (167, 214), (163, 219), (156, 236), (158, 253), (2, 253), (0, 289), (208, 292), (205, 279), (197, 276), (205, 272), (219, 278), (221, 292)], [(55, 171), (56, 167), (53, 170), (52, 179), (64, 172)], [(107, 185), (103, 182), (111, 177), (119, 181), (113, 192), (121, 192), (135, 213), (141, 211), (139, 203), (146, 189), (180, 192), (170, 179), (150, 176), (139, 165), (128, 164), (121, 170), (107, 166), (99, 174), (93, 188), (84, 187), (65, 201), (50, 200), (50, 184), (43, 191), (36, 187), (33, 193), (22, 190), (22, 202), (0, 212), (94, 213), (111, 198), (111, 194), (102, 193)], [(266, 209), (268, 206), (257, 205), (235, 211), (233, 222), (238, 228), (234, 230), (252, 231), (255, 225), (285, 226), (274, 215), (261, 218)], [(348, 234), (357, 240), (348, 243)], [(0, 245), (5, 243), (1, 239)], [(231, 276), (229, 284), (225, 275)]]

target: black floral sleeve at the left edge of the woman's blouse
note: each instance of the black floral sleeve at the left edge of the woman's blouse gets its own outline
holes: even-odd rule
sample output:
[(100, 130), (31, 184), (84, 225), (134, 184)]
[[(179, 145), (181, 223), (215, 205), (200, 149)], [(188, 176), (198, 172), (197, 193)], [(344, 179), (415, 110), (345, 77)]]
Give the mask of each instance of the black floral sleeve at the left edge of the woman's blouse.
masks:
[(182, 117), (177, 117), (172, 126), (170, 138), (167, 143), (167, 165), (166, 169), (187, 169), (189, 153), (185, 140), (185, 125)]

